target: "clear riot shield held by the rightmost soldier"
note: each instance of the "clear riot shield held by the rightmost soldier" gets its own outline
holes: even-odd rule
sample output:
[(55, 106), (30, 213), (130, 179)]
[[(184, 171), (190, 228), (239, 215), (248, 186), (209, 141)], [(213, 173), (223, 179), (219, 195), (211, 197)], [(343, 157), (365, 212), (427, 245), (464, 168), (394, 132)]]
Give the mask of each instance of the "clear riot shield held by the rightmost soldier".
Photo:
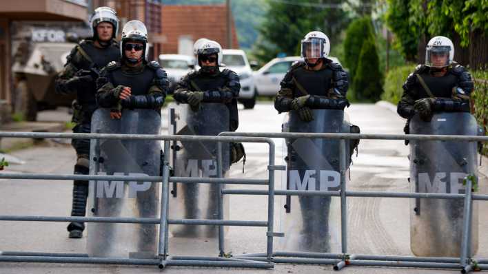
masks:
[[(431, 122), (418, 115), (411, 134), (476, 135), (476, 120), (465, 112), (434, 114)], [(411, 191), (465, 193), (463, 179), (476, 174), (476, 142), (410, 142)], [(459, 257), (464, 200), (411, 199), (410, 247), (417, 256)], [(471, 253), (478, 250), (478, 204), (473, 204)]]

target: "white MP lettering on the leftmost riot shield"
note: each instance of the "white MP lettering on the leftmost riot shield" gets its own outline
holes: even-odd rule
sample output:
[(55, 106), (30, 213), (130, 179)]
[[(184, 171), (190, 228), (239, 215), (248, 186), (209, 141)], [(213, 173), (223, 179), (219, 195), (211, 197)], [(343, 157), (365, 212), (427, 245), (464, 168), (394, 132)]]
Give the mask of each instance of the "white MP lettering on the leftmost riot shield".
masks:
[[(98, 175), (107, 175), (105, 172), (99, 172)], [(114, 172), (114, 176), (124, 176), (123, 172)], [(144, 173), (129, 173), (129, 176), (148, 176)], [(116, 198), (116, 199), (135, 199), (138, 192), (148, 191), (151, 188), (151, 182), (129, 181), (96, 181), (96, 198)], [(128, 191), (125, 191), (126, 186)], [(125, 197), (127, 192), (127, 197)]]

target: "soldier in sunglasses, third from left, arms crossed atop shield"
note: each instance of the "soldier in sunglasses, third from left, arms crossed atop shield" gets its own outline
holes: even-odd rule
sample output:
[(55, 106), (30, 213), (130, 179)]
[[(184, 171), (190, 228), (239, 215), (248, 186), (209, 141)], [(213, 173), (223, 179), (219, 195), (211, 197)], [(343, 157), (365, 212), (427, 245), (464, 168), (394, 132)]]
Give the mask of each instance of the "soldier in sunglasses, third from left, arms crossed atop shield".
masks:
[[(198, 44), (197, 44), (198, 43)], [(189, 104), (198, 110), (200, 103), (223, 103), (230, 113), (230, 131), (239, 125), (237, 113), (237, 97), (241, 85), (238, 75), (232, 70), (220, 70), (222, 64), (222, 48), (215, 41), (199, 39), (195, 45), (197, 62), (200, 70), (190, 72), (176, 86), (174, 99), (179, 103)], [(231, 144), (231, 162), (237, 162), (244, 156), (243, 146)]]

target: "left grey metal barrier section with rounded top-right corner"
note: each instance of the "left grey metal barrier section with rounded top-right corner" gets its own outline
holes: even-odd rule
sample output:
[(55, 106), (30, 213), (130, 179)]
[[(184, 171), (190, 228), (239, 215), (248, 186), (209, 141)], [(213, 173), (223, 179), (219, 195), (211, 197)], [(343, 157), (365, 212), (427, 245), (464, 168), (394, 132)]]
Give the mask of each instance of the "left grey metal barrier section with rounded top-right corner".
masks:
[[(0, 215), (0, 220), (9, 221), (37, 221), (37, 222), (110, 222), (110, 223), (139, 223), (159, 224), (158, 256), (154, 260), (148, 259), (124, 259), (124, 258), (102, 258), (88, 257), (87, 254), (79, 253), (36, 253), (19, 251), (0, 251), (0, 262), (54, 262), (54, 263), (83, 263), (83, 264), (136, 264), (156, 265), (160, 268), (165, 266), (216, 266), (216, 267), (241, 267), (241, 268), (273, 268), (271, 262), (273, 253), (273, 212), (274, 212), (274, 170), (280, 169), (274, 165), (274, 142), (270, 138), (261, 137), (224, 137), (224, 136), (162, 136), (146, 134), (69, 134), (69, 133), (32, 133), (32, 132), (0, 132), (0, 137), (8, 138), (86, 138), (86, 139), (119, 139), (119, 140), (164, 140), (164, 159), (161, 162), (163, 174), (159, 176), (100, 176), (100, 175), (72, 175), (72, 174), (19, 174), (0, 173), (0, 179), (30, 179), (30, 180), (119, 180), (119, 181), (146, 181), (162, 182), (161, 187), (161, 208), (160, 218), (110, 218), (110, 217), (56, 217), (56, 216), (21, 216), (21, 215)], [(267, 180), (256, 179), (230, 179), (230, 178), (181, 178), (170, 177), (169, 153), (170, 140), (179, 141), (215, 141), (218, 142), (217, 170), (218, 176), (222, 177), (222, 146), (225, 142), (243, 143), (267, 143), (270, 146), (269, 177)], [(267, 221), (241, 221), (223, 220), (223, 207), (220, 196), (218, 208), (218, 220), (201, 219), (168, 219), (169, 210), (169, 183), (216, 183), (241, 185), (268, 185), (268, 220)], [(267, 227), (267, 259), (266, 262), (259, 262), (250, 259), (227, 258), (227, 257), (203, 257), (203, 256), (177, 256), (172, 257), (168, 253), (168, 224), (186, 225), (217, 225), (219, 226), (219, 255), (225, 255), (223, 226), (266, 226)]]

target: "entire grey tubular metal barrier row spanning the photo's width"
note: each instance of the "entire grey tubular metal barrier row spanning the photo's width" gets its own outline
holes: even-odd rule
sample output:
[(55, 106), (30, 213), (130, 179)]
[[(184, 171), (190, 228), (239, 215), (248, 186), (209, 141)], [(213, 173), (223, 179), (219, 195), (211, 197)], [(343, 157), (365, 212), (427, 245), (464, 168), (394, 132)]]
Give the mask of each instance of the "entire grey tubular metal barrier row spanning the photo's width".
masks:
[[(0, 132), (0, 137), (12, 138), (94, 138), (94, 139), (130, 139), (130, 140), (164, 140), (164, 151), (168, 151), (170, 140), (213, 140), (218, 142), (217, 169), (218, 175), (222, 174), (221, 167), (221, 143), (222, 142), (252, 142), (268, 143), (270, 145), (268, 179), (223, 179), (223, 178), (175, 178), (169, 177), (168, 155), (161, 163), (163, 168), (162, 177), (137, 177), (137, 176), (80, 176), (80, 175), (56, 175), (56, 174), (4, 174), (0, 178), (12, 179), (49, 179), (49, 180), (136, 180), (163, 182), (161, 196), (161, 218), (81, 218), (81, 217), (42, 217), (42, 216), (0, 216), (0, 220), (18, 221), (43, 221), (43, 222), (125, 222), (125, 223), (150, 223), (160, 224), (159, 257), (154, 260), (137, 259), (106, 259), (88, 257), (83, 254), (67, 253), (22, 253), (3, 252), (0, 254), (0, 262), (72, 262), (90, 264), (141, 264), (165, 266), (230, 266), (230, 267), (252, 267), (272, 268), (273, 263), (293, 264), (332, 264), (334, 269), (339, 270), (347, 265), (350, 266), (388, 266), (388, 267), (417, 267), (417, 268), (452, 268), (460, 269), (462, 273), (468, 273), (474, 268), (488, 269), (488, 259), (476, 259), (471, 257), (470, 231), (471, 231), (471, 204), (473, 200), (488, 200), (488, 195), (474, 195), (471, 193), (471, 180), (467, 180), (467, 191), (465, 194), (443, 194), (443, 193), (398, 193), (398, 192), (376, 192), (376, 191), (346, 191), (345, 189), (345, 158), (347, 139), (376, 139), (376, 140), (450, 140), (450, 141), (488, 141), (488, 136), (436, 136), (436, 135), (394, 135), (394, 134), (304, 134), (304, 133), (237, 133), (225, 132), (220, 136), (141, 136), (136, 134), (46, 134), (46, 133), (20, 133)], [(283, 170), (283, 166), (274, 165), (274, 143), (270, 138), (332, 138), (340, 139), (340, 191), (295, 191), (295, 190), (274, 190), (274, 171)], [(219, 167), (220, 166), (220, 167)], [(268, 190), (246, 190), (246, 189), (222, 189), (223, 195), (266, 195), (268, 196), (268, 220), (267, 222), (256, 221), (232, 221), (232, 220), (168, 220), (168, 196), (169, 182), (199, 182), (219, 184), (243, 184), (243, 185), (265, 185)], [(312, 196), (338, 196), (341, 201), (341, 253), (310, 253), (310, 252), (274, 252), (273, 237), (279, 233), (274, 232), (274, 196), (275, 195), (312, 195)], [(376, 198), (435, 198), (435, 199), (464, 199), (464, 229), (462, 233), (462, 246), (460, 257), (413, 257), (413, 256), (392, 256), (392, 255), (360, 255), (347, 252), (347, 197), (376, 197)], [(267, 250), (265, 253), (252, 253), (239, 255), (232, 258), (226, 257), (191, 257), (191, 256), (170, 256), (167, 250), (167, 225), (168, 224), (212, 224), (222, 226), (267, 226)], [(223, 230), (219, 231), (219, 253), (224, 252)], [(283, 257), (283, 258), (282, 258)]]

